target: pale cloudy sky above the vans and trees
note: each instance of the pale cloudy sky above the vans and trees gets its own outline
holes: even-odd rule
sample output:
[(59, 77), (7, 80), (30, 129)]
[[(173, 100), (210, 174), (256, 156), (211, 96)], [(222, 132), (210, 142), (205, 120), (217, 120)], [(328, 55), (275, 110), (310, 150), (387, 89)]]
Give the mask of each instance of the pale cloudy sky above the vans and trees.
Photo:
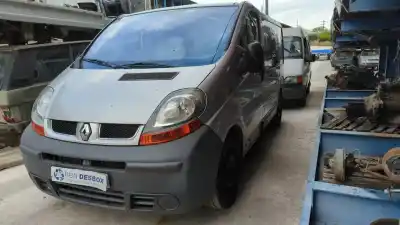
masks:
[[(202, 3), (241, 2), (241, 0), (194, 0)], [(247, 0), (261, 10), (264, 0)], [(311, 30), (322, 25), (329, 28), (334, 0), (269, 0), (269, 15), (282, 23)]]

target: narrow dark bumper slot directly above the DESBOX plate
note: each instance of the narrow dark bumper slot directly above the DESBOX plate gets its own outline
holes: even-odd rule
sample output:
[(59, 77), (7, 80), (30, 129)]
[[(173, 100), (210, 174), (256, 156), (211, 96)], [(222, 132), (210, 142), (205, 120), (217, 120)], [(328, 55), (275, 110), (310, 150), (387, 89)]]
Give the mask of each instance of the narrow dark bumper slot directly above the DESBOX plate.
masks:
[(99, 168), (99, 169), (123, 170), (126, 167), (125, 162), (87, 160), (87, 159), (84, 160), (84, 159), (79, 159), (79, 158), (59, 156), (59, 155), (48, 154), (48, 153), (42, 153), (42, 159), (61, 163), (61, 164), (94, 167), (94, 168)]

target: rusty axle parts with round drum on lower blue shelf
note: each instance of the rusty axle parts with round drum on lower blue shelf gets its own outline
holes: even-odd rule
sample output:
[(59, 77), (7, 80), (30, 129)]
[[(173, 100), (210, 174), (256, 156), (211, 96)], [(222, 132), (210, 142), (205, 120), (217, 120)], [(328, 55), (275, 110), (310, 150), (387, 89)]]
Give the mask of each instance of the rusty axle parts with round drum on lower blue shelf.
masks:
[(325, 182), (388, 191), (400, 185), (400, 148), (390, 149), (383, 157), (336, 149), (323, 159), (320, 179)]

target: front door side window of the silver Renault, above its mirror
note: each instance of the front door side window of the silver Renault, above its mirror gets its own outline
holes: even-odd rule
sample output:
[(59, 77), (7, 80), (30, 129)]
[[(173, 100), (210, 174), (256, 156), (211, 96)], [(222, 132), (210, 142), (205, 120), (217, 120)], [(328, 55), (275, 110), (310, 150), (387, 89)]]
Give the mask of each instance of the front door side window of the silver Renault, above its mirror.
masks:
[(246, 16), (243, 30), (240, 40), (242, 47), (247, 47), (253, 41), (260, 41), (259, 19), (256, 13), (250, 12)]

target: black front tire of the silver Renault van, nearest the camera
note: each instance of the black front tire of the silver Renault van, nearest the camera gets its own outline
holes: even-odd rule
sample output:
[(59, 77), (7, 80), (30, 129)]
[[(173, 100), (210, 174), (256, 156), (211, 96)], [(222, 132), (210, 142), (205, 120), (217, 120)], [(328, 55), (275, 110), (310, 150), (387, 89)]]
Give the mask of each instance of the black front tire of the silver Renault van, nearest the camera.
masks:
[(243, 156), (235, 136), (228, 136), (222, 149), (214, 196), (209, 206), (215, 210), (231, 208), (239, 193)]

